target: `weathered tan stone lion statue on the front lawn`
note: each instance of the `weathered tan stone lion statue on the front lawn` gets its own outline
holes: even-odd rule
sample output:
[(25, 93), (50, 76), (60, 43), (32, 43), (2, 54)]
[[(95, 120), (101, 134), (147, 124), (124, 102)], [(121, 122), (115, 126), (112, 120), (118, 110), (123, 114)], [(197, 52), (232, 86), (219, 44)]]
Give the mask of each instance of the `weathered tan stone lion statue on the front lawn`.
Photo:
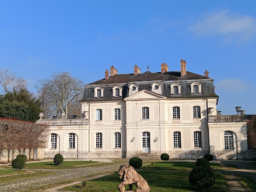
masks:
[(121, 182), (117, 186), (119, 191), (121, 192), (125, 191), (124, 185), (128, 185), (128, 184), (129, 184), (129, 190), (126, 190), (126, 191), (127, 192), (132, 191), (133, 183), (136, 183), (136, 186), (138, 189), (135, 191), (137, 192), (150, 191), (150, 186), (148, 186), (146, 180), (140, 174), (138, 174), (134, 169), (134, 167), (132, 167), (131, 165), (121, 165), (117, 174), (119, 178), (123, 180), (123, 182)]

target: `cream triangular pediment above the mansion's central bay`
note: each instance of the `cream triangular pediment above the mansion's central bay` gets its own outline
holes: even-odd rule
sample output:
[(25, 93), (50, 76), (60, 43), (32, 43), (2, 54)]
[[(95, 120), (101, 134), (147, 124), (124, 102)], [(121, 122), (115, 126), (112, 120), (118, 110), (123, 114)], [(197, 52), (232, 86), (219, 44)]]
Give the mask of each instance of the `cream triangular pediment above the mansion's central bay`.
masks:
[(126, 97), (124, 100), (148, 100), (148, 99), (166, 99), (166, 97), (159, 95), (157, 93), (142, 90), (138, 93), (135, 93), (129, 97)]

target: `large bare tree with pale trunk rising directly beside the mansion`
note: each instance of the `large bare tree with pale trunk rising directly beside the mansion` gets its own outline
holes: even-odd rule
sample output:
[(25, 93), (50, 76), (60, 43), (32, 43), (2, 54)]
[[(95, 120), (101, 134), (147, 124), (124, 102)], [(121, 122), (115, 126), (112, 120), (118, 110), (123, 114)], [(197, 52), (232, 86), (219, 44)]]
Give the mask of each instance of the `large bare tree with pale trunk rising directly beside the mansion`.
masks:
[(50, 78), (39, 80), (36, 88), (45, 117), (60, 115), (62, 112), (65, 112), (64, 118), (80, 115), (79, 100), (82, 98), (83, 85), (82, 80), (71, 77), (68, 72), (54, 73)]

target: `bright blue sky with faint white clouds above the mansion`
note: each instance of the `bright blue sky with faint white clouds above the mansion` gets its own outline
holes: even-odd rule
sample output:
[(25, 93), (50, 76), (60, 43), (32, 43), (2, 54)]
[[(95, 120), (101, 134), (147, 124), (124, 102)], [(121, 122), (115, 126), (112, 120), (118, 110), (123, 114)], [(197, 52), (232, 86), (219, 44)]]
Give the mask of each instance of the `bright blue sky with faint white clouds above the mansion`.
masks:
[(1, 1), (0, 68), (38, 79), (68, 71), (90, 83), (118, 73), (187, 71), (214, 78), (218, 110), (256, 114), (255, 1)]

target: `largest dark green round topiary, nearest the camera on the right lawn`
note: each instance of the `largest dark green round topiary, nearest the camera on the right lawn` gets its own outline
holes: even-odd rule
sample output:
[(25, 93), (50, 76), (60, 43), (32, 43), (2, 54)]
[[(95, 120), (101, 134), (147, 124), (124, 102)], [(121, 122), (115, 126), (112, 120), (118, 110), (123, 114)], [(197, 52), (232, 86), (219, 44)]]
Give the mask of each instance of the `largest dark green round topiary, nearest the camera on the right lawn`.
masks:
[(208, 188), (215, 183), (215, 175), (210, 167), (197, 166), (189, 174), (189, 183), (200, 190)]

